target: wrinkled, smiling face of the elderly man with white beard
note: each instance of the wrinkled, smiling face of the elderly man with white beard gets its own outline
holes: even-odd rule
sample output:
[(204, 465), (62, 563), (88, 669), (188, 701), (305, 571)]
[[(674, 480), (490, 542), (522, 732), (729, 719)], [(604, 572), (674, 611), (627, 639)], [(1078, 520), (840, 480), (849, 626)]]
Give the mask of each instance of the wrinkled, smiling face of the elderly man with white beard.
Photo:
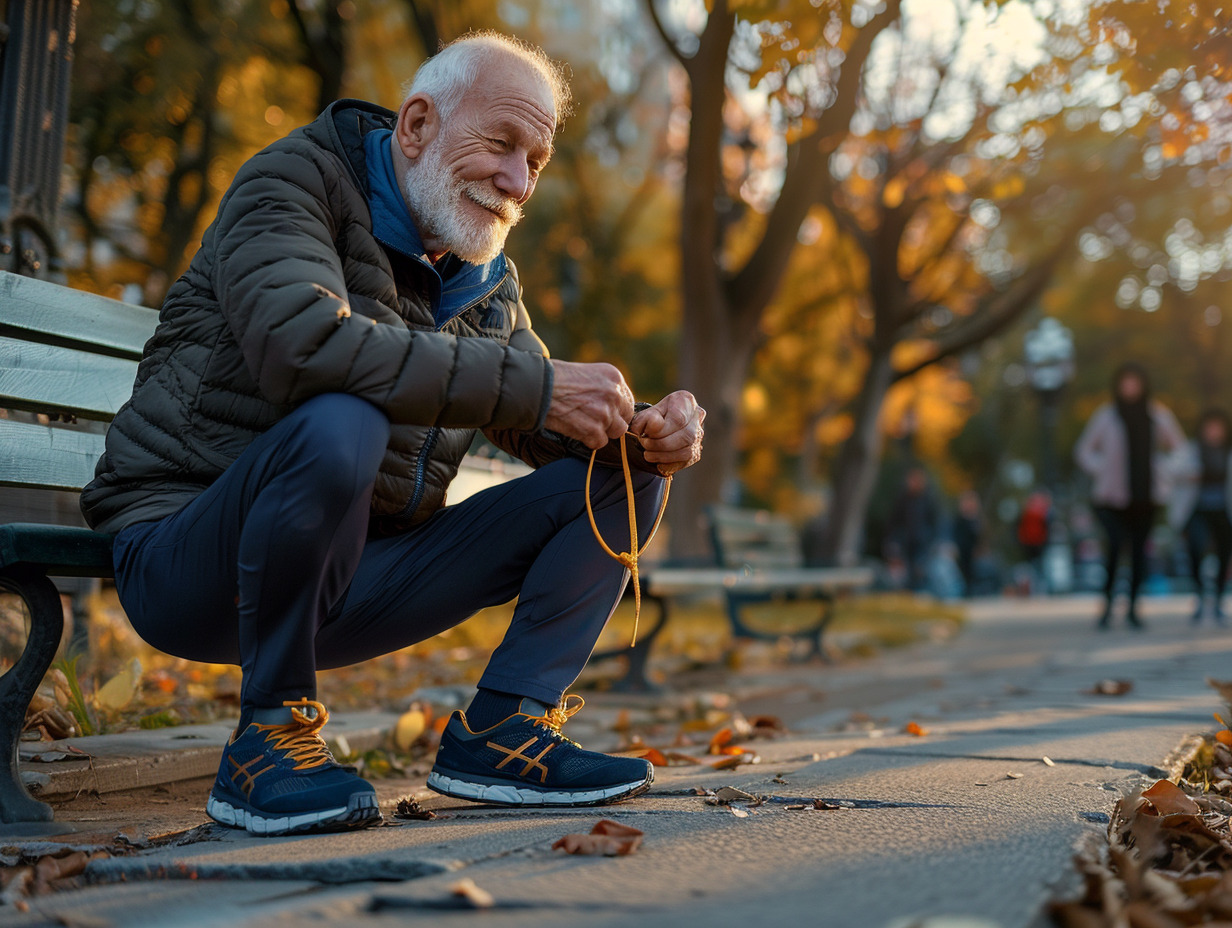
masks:
[(552, 91), (527, 65), (494, 62), (409, 161), (403, 193), (425, 242), (464, 261), (500, 254), (552, 154)]

